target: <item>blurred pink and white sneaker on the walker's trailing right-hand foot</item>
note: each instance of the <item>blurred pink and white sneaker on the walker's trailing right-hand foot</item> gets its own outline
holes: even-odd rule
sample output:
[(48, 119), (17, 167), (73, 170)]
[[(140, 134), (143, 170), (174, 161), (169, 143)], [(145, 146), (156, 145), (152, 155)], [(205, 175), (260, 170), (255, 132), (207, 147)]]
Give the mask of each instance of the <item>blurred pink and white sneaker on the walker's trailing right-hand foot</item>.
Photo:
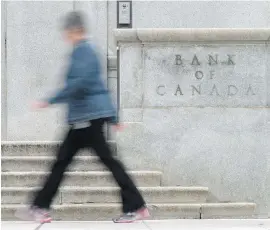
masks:
[(113, 219), (114, 223), (133, 223), (138, 220), (145, 220), (150, 217), (149, 210), (147, 208), (141, 208), (136, 212), (124, 213), (119, 218)]

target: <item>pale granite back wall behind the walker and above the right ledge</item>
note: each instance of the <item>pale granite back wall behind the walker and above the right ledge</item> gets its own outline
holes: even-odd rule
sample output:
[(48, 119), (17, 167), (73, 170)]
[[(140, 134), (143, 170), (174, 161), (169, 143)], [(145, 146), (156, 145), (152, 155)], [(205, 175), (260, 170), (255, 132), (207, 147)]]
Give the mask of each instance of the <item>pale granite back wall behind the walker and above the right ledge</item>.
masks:
[[(258, 28), (267, 27), (270, 21), (268, 1), (133, 1), (132, 4), (135, 28)], [(116, 95), (116, 61), (111, 58), (116, 56), (112, 32), (117, 27), (116, 1), (3, 1), (2, 140), (59, 139), (64, 125), (63, 108), (33, 112), (29, 104), (61, 86), (68, 47), (61, 40), (59, 20), (73, 9), (87, 14), (89, 35), (100, 48), (104, 80)], [(114, 139), (112, 132), (109, 138)]]

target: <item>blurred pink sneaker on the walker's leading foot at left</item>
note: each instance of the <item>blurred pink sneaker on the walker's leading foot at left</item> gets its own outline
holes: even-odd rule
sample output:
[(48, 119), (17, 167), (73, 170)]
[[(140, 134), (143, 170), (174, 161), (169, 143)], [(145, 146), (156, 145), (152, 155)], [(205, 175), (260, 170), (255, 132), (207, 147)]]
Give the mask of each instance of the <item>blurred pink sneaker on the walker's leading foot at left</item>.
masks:
[(15, 216), (21, 220), (35, 221), (42, 224), (50, 223), (52, 221), (52, 218), (47, 210), (36, 207), (17, 210)]

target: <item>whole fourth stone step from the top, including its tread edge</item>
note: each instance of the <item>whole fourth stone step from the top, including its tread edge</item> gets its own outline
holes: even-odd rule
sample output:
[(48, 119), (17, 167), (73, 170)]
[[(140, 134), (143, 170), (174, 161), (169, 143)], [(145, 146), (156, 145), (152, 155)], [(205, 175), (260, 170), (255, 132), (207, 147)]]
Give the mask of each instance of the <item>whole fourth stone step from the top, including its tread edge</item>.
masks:
[[(24, 204), (37, 188), (3, 187), (2, 204)], [(145, 187), (140, 188), (147, 203), (204, 203), (206, 187)], [(119, 188), (62, 187), (54, 204), (119, 203)]]

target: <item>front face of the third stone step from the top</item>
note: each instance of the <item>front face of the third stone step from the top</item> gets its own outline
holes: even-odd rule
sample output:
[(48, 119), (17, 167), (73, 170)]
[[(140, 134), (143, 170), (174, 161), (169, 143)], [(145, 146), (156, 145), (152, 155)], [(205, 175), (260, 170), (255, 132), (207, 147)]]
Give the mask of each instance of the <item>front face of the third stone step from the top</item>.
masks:
[[(38, 187), (45, 179), (45, 175), (4, 175), (2, 173), (2, 187)], [(136, 184), (141, 187), (160, 186), (159, 175), (136, 175)], [(67, 175), (63, 186), (116, 186), (110, 174), (106, 175)]]

